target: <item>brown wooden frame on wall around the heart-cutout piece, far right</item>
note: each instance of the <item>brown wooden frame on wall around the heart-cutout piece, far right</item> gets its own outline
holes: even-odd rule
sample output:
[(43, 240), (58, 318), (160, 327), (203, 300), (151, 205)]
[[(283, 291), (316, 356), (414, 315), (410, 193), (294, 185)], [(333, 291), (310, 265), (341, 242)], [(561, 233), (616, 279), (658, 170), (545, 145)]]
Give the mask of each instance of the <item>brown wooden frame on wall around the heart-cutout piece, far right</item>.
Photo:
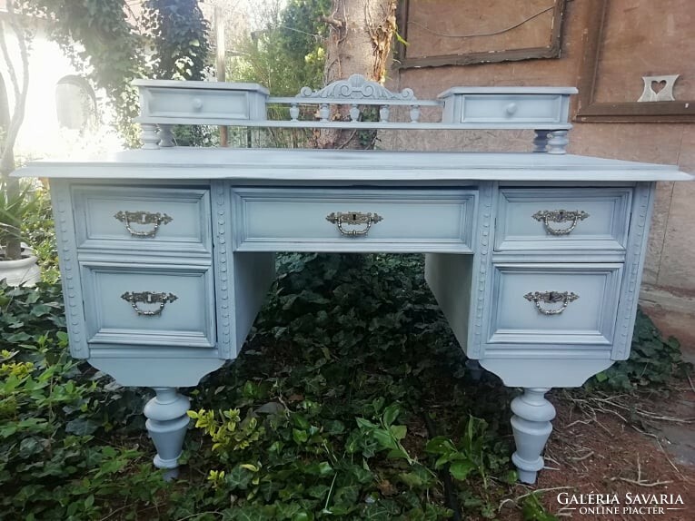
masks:
[(695, 100), (674, 102), (595, 101), (596, 83), (605, 35), (609, 0), (588, 0), (590, 3), (588, 39), (584, 45), (579, 80), (579, 104), (574, 121), (581, 123), (686, 123), (695, 122)]

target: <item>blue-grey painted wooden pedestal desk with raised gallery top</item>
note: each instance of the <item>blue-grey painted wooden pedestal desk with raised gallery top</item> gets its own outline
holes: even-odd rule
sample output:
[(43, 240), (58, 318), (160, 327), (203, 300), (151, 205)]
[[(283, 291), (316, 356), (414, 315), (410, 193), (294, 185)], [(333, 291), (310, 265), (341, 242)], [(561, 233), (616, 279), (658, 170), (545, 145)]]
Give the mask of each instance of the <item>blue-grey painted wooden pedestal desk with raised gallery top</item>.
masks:
[[(424, 102), (362, 78), (297, 98), (249, 84), (139, 86), (143, 150), (20, 174), (51, 178), (73, 356), (156, 391), (144, 414), (157, 467), (175, 474), (183, 446), (189, 402), (177, 388), (237, 356), (275, 251), (426, 253), (466, 355), (524, 389), (511, 403), (512, 460), (528, 483), (555, 414), (544, 394), (628, 358), (655, 182), (690, 176), (564, 153), (573, 89), (454, 88)], [(266, 120), (267, 103), (292, 119)], [(320, 121), (298, 119), (305, 103)], [(332, 103), (347, 103), (351, 121), (331, 121)], [(381, 122), (360, 121), (365, 104)], [(419, 122), (420, 106), (442, 120)], [(399, 110), (410, 119), (393, 122)], [(536, 153), (187, 149), (173, 146), (177, 123), (528, 128)]]

